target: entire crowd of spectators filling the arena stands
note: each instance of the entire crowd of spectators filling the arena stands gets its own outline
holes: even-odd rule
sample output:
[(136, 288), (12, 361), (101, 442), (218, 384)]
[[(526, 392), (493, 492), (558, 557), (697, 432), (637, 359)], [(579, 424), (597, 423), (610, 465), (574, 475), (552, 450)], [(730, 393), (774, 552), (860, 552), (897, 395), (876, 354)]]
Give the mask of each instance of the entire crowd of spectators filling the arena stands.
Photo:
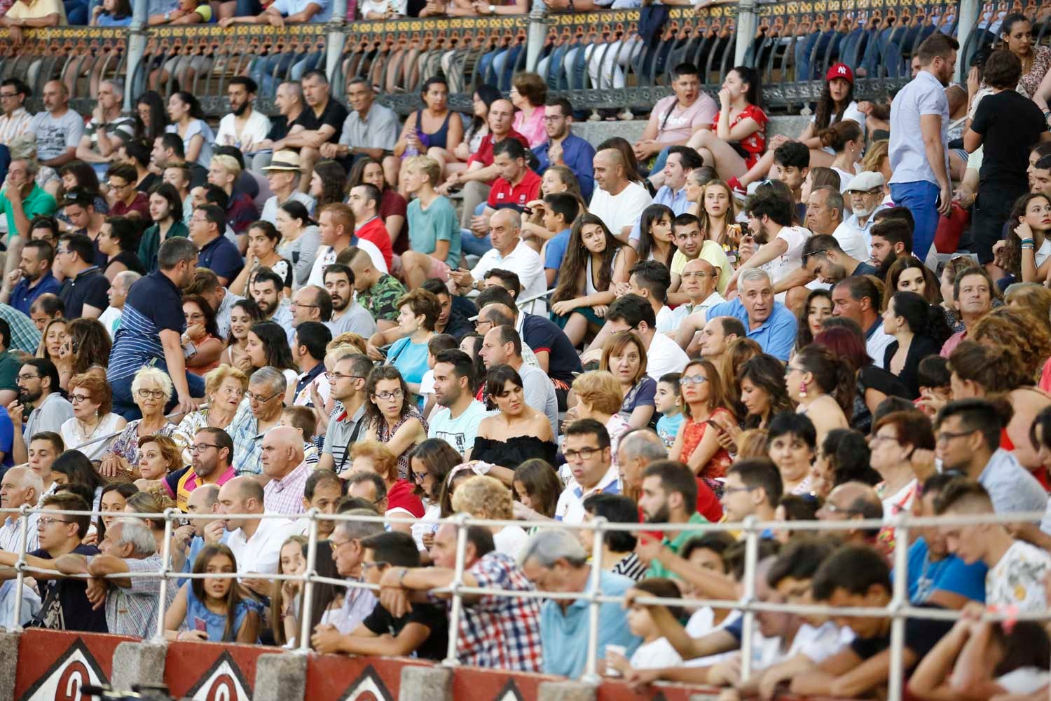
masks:
[[(221, 23), (325, 18), (233, 4)], [(185, 5), (163, 20), (209, 21)], [(1051, 61), (1030, 29), (1004, 20), (959, 110), (945, 35), (887, 104), (836, 64), (798, 139), (767, 139), (747, 66), (718, 100), (675, 66), (642, 138), (597, 146), (527, 73), (510, 99), (477, 86), (470, 120), (432, 79), (403, 123), (297, 56), (280, 118), (254, 107), (288, 69), (268, 63), (214, 131), (187, 91), (126, 117), (101, 81), (83, 119), (56, 80), (30, 117), (2, 81), (0, 616), (21, 598), (20, 623), (150, 637), (163, 606), (172, 640), (429, 660), (455, 635), (461, 664), (579, 678), (597, 581), (623, 599), (599, 606), (604, 675), (859, 697), (891, 672), (901, 576), (961, 612), (906, 619), (912, 697), (1046, 696), (1046, 621), (983, 618), (1051, 596)], [(142, 515), (171, 507), (165, 543)], [(318, 523), (316, 573), (367, 585), (307, 611), (273, 576), (306, 571), (311, 510), (350, 518)], [(906, 539), (903, 512), (965, 518)], [(1018, 521), (968, 520), (989, 514)], [(760, 612), (745, 678), (744, 541), (708, 524), (749, 516), (758, 601), (872, 615)], [(645, 530), (596, 540), (596, 519)], [(792, 525), (815, 519), (844, 523)], [(460, 535), (466, 586), (563, 597), (467, 595), (450, 631)], [(162, 566), (217, 576), (160, 601), (140, 575)]]

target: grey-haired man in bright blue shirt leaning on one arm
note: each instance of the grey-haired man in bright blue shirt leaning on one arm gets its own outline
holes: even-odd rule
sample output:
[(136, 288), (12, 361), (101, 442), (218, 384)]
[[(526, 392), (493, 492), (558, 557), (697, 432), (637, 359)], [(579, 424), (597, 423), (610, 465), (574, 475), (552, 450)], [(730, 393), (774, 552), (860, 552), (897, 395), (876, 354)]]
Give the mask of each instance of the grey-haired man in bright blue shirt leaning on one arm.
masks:
[[(748, 337), (762, 346), (764, 353), (787, 360), (796, 345), (797, 319), (787, 307), (774, 300), (770, 276), (759, 268), (744, 268), (738, 277), (738, 289), (740, 294), (736, 300), (710, 307), (704, 318), (741, 319)], [(703, 327), (704, 319), (700, 324)]]

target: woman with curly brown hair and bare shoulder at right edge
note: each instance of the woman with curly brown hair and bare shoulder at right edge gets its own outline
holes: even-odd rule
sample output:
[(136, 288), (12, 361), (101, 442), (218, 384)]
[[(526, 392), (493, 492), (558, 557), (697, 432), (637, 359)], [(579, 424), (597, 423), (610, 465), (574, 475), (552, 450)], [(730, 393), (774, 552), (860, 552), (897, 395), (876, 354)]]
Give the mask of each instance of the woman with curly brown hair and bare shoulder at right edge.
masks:
[(1037, 414), (1051, 407), (1051, 396), (1033, 386), (1033, 376), (1017, 349), (986, 341), (962, 341), (949, 356), (952, 398), (1004, 395), (1013, 413), (1001, 433), (1000, 447), (1013, 451), (1022, 467), (1035, 472), (1043, 460), (1029, 428)]

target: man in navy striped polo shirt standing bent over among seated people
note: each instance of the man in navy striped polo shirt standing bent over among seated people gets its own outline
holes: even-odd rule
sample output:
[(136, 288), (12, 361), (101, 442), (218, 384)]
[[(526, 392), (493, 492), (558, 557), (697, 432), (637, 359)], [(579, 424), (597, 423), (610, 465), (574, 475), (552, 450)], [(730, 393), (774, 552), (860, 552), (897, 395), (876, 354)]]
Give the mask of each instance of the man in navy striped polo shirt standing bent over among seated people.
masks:
[(180, 411), (193, 411), (198, 406), (193, 397), (204, 396), (204, 378), (186, 372), (181, 342), (186, 330), (181, 290), (193, 279), (198, 247), (189, 239), (169, 239), (161, 245), (157, 260), (158, 270), (128, 291), (106, 370), (114, 389), (114, 411), (129, 420), (141, 416), (131, 396), (131, 379), (146, 366), (171, 376)]

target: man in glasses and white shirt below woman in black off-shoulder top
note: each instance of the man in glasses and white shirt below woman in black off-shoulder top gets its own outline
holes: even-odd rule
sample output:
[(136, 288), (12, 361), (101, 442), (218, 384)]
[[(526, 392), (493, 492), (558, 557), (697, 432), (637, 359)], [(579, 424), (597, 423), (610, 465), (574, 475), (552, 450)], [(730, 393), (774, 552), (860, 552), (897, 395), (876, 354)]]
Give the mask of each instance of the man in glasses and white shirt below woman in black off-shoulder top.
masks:
[(582, 523), (584, 499), (593, 494), (620, 494), (610, 432), (594, 418), (574, 421), (565, 427), (562, 454), (573, 478), (558, 497), (555, 518), (566, 523)]

